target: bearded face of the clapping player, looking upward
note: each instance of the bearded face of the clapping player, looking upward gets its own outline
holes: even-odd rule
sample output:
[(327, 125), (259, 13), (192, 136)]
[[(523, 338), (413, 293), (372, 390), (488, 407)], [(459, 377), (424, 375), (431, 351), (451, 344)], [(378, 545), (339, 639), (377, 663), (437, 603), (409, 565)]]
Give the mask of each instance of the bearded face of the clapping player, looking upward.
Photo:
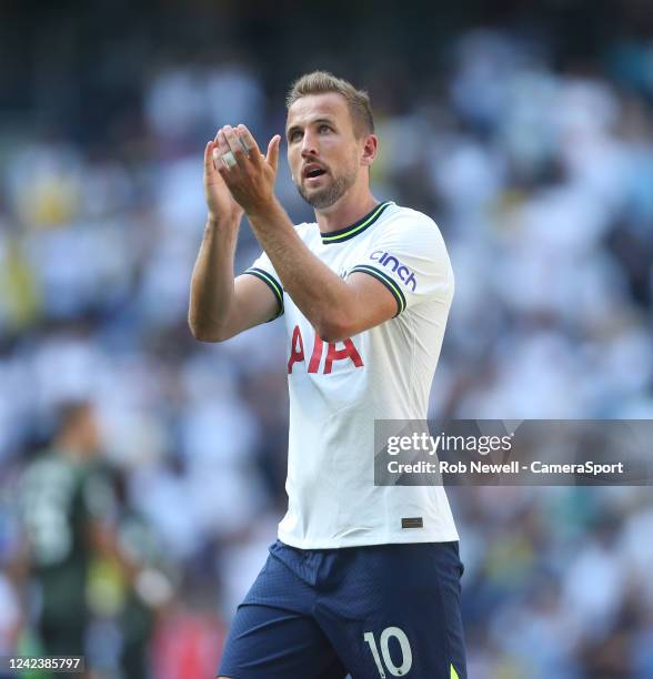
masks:
[(340, 94), (311, 94), (288, 111), (288, 162), (300, 195), (315, 210), (340, 200), (363, 171), (346, 101)]

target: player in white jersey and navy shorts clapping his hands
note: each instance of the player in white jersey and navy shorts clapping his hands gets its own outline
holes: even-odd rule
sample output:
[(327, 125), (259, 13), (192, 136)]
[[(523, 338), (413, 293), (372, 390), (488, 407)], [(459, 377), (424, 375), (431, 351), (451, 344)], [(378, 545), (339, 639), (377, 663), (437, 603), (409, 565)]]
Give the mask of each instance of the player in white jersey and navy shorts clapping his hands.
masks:
[[(378, 138), (365, 92), (330, 73), (288, 97), (293, 181), (315, 223), (274, 195), (281, 136), (244, 125), (204, 150), (207, 226), (191, 283), (195, 338), (283, 315), (288, 513), (225, 643), (220, 677), (466, 677), (458, 534), (442, 487), (375, 486), (374, 419), (425, 419), (453, 295), (426, 215), (370, 192)], [(233, 276), (247, 213), (263, 250)]]

